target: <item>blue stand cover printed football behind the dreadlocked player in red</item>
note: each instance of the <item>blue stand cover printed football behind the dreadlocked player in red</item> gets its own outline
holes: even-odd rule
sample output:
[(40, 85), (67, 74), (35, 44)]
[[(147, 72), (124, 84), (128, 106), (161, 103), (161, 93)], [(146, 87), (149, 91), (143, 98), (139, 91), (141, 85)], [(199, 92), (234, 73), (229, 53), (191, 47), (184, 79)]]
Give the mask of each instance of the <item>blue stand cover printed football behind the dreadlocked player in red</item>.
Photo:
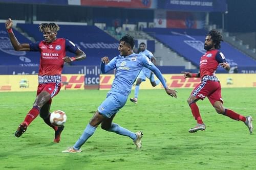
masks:
[[(36, 24), (17, 23), (17, 27), (36, 41), (43, 39)], [(101, 57), (113, 58), (119, 54), (117, 51), (118, 41), (96, 26), (59, 25), (59, 27), (57, 37), (71, 40), (87, 55), (86, 60), (73, 62), (72, 65), (99, 65)], [(67, 53), (67, 55), (72, 56), (73, 54)]]

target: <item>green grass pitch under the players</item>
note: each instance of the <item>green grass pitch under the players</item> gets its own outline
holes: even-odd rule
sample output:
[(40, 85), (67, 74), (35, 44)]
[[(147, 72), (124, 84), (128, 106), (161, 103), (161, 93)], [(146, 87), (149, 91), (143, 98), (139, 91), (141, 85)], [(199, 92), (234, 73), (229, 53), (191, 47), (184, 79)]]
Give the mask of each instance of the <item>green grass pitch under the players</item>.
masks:
[[(114, 118), (122, 127), (143, 132), (141, 151), (129, 137), (98, 127), (76, 154), (61, 151), (76, 142), (107, 91), (62, 90), (55, 96), (51, 111), (68, 116), (60, 143), (53, 143), (53, 129), (39, 116), (15, 138), (36, 92), (0, 93), (0, 169), (256, 169), (256, 132), (250, 135), (243, 122), (217, 114), (205, 99), (197, 104), (206, 130), (188, 133), (196, 124), (186, 102), (192, 89), (177, 90), (177, 99), (164, 90), (140, 90), (138, 104), (127, 101)], [(224, 106), (256, 118), (255, 92), (224, 88)]]

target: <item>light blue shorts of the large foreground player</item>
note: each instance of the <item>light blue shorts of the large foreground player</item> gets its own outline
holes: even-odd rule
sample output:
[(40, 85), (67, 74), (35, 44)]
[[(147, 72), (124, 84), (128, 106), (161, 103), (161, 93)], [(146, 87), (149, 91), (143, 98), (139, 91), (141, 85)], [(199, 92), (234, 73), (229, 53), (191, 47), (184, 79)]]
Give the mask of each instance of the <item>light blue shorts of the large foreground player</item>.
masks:
[(127, 98), (128, 96), (109, 91), (106, 95), (106, 99), (98, 107), (98, 111), (103, 116), (110, 118), (125, 105)]

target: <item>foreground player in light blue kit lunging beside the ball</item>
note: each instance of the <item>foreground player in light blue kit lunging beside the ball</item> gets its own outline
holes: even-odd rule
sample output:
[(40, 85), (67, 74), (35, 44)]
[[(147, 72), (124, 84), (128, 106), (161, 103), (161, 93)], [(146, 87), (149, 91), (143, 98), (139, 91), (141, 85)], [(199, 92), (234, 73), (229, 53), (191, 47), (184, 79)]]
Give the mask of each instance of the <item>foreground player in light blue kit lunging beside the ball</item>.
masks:
[(106, 95), (106, 99), (98, 107), (98, 110), (90, 120), (86, 129), (83, 131), (80, 138), (76, 141), (73, 147), (69, 147), (63, 153), (78, 153), (82, 152), (80, 148), (95, 132), (96, 128), (101, 124), (101, 128), (115, 132), (119, 135), (130, 137), (137, 149), (141, 149), (142, 132), (131, 132), (118, 124), (112, 123), (116, 113), (125, 105), (132, 86), (139, 72), (143, 67), (151, 69), (157, 78), (163, 84), (166, 93), (174, 98), (177, 98), (176, 90), (169, 89), (166, 86), (164, 78), (159, 69), (142, 54), (133, 52), (134, 39), (130, 35), (123, 36), (119, 41), (118, 51), (120, 55), (114, 57), (111, 61), (108, 57), (101, 59), (101, 72), (106, 72), (116, 69), (115, 79), (112, 83), (111, 90)]

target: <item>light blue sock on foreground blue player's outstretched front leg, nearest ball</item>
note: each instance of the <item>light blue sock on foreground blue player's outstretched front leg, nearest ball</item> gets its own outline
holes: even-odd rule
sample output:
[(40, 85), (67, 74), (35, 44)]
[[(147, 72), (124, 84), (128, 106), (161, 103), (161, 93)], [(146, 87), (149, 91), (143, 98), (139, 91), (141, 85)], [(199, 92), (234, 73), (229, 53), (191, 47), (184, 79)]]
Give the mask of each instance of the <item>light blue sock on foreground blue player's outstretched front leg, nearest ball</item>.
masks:
[(80, 136), (80, 138), (74, 144), (73, 148), (76, 150), (79, 150), (82, 147), (83, 143), (85, 143), (87, 141), (87, 139), (89, 139), (89, 137), (91, 137), (93, 135), (95, 130), (96, 130), (95, 127), (88, 124), (86, 129), (83, 131), (83, 134)]

